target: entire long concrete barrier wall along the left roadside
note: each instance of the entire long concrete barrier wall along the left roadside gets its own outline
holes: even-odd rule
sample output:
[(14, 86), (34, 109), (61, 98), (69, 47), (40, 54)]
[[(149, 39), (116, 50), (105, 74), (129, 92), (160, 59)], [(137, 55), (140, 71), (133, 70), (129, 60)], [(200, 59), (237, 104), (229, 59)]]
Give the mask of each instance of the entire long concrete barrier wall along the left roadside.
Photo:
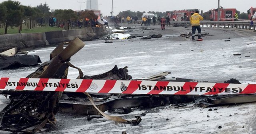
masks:
[(64, 41), (72, 41), (76, 37), (82, 41), (93, 40), (106, 35), (104, 26), (100, 28), (82, 28), (76, 30), (52, 31), (45, 33), (22, 33), (0, 35), (0, 52), (17, 47), (18, 49), (44, 47), (46, 44), (55, 45)]

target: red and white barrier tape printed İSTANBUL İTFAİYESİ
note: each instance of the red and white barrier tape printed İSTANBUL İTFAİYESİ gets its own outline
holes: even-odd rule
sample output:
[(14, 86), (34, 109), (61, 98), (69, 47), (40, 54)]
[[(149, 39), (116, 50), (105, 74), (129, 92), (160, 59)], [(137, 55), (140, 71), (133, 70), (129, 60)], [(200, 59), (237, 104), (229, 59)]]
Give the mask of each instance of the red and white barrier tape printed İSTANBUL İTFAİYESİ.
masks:
[(228, 83), (0, 78), (0, 90), (9, 89), (142, 95), (230, 95), (256, 93), (256, 85)]

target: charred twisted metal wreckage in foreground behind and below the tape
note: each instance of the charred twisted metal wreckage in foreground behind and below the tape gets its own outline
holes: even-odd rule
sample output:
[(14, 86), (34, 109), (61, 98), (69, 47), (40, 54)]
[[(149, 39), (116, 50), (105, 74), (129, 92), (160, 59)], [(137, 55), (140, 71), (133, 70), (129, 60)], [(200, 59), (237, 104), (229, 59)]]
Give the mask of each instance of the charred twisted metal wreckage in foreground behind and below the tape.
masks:
[[(76, 38), (64, 49), (64, 45), (58, 45), (50, 54), (50, 61), (43, 63), (34, 73), (27, 78), (54, 78), (67, 79), (68, 67), (78, 69), (77, 79), (102, 79), (102, 80), (131, 80), (127, 67), (112, 70), (101, 75), (84, 76), (81, 69), (72, 65), (70, 57), (84, 47), (84, 43)], [(170, 72), (163, 72), (144, 79), (143, 81), (162, 81)], [(195, 81), (191, 79), (173, 79), (168, 81)], [(227, 83), (239, 83), (231, 79)], [(93, 86), (93, 85), (92, 85)], [(122, 88), (122, 87), (120, 87)], [(103, 115), (109, 120), (138, 125), (140, 116), (135, 120), (125, 120), (117, 116), (109, 116), (104, 112), (126, 114), (135, 107), (157, 107), (174, 103), (177, 106), (183, 102), (196, 102), (198, 106), (218, 106), (222, 104), (235, 104), (256, 102), (256, 95), (227, 95), (227, 96), (191, 96), (191, 95), (113, 95), (48, 92), (48, 91), (1, 91), (0, 94), (10, 95), (10, 103), (0, 112), (0, 130), (10, 132), (35, 133), (44, 128), (46, 123), (56, 123), (55, 115), (58, 111), (89, 114), (87, 120), (101, 118)], [(92, 97), (91, 97), (92, 96)], [(246, 99), (245, 99), (246, 98)], [(90, 102), (89, 102), (90, 101)], [(94, 103), (95, 101), (95, 103)]]

